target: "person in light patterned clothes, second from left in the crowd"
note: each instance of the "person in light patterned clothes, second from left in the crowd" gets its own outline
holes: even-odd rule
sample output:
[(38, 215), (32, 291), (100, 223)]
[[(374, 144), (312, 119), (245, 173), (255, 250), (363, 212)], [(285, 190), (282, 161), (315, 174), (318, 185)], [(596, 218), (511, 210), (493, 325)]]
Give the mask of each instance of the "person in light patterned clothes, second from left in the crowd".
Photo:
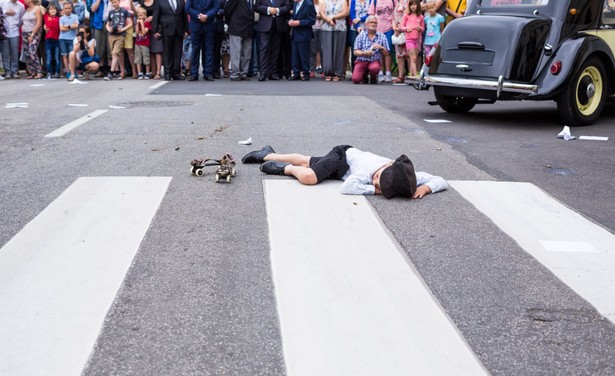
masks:
[(25, 0), (26, 12), (21, 27), (23, 51), (26, 56), (28, 75), (26, 78), (43, 78), (41, 59), (38, 57), (38, 45), (43, 35), (43, 15), (35, 0)]

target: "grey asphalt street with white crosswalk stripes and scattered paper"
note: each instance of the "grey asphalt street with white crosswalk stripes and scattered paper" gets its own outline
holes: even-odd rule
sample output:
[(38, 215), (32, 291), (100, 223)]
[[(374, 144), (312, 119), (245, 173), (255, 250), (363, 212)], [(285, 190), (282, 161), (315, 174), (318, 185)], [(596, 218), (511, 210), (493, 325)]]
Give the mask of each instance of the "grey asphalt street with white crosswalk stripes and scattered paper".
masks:
[[(11, 80), (0, 98), (0, 375), (615, 374), (612, 103), (564, 141), (553, 102), (453, 115), (405, 85)], [(267, 144), (405, 153), (450, 187), (189, 172)]]

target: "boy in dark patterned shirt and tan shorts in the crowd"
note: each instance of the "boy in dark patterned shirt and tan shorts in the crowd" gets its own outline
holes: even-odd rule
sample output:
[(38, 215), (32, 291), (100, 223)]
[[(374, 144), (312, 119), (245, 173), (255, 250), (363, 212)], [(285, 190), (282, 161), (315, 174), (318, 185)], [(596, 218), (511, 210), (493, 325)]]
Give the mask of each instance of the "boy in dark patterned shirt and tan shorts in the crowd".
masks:
[[(107, 31), (109, 32), (109, 48), (111, 49), (111, 71), (105, 77), (106, 81), (116, 77), (118, 80), (124, 78), (124, 62), (120, 56), (124, 53), (124, 35), (126, 30), (132, 28), (132, 17), (128, 11), (120, 7), (120, 0), (111, 0), (111, 10), (107, 20)], [(115, 74), (115, 75), (114, 75)]]

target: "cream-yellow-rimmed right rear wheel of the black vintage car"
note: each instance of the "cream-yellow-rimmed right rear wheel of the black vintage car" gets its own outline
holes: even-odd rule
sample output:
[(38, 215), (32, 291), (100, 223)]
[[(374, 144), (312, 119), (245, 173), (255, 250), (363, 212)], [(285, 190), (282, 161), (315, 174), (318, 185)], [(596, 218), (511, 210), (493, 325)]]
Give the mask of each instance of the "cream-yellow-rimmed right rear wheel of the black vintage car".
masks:
[(564, 124), (584, 126), (594, 123), (606, 100), (606, 74), (600, 59), (587, 59), (557, 98), (557, 110)]

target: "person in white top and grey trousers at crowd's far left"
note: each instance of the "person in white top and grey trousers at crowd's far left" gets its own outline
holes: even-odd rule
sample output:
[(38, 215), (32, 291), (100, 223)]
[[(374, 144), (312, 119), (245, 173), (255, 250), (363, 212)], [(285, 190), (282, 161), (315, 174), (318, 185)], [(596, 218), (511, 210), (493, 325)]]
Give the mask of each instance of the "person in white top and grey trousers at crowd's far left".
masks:
[(0, 42), (5, 78), (19, 78), (19, 28), (25, 7), (17, 0), (0, 0), (4, 12), (6, 39)]

